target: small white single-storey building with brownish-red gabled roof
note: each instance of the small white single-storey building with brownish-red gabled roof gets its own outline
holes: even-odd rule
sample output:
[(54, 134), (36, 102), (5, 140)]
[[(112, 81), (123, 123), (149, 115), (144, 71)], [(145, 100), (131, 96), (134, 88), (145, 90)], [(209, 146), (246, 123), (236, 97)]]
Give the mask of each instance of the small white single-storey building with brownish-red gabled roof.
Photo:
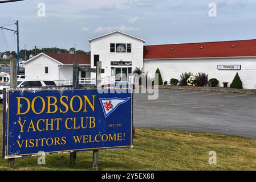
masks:
[[(71, 80), (73, 63), (90, 67), (91, 55), (68, 53), (39, 53), (24, 63), (27, 79)], [(79, 77), (90, 78), (90, 73), (80, 72)]]

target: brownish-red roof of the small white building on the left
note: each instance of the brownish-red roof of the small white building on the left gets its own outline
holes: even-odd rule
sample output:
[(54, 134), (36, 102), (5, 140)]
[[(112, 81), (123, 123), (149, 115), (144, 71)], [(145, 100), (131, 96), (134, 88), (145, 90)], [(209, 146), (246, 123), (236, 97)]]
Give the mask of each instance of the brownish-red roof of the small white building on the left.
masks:
[(50, 59), (56, 61), (60, 65), (73, 64), (74, 62), (81, 64), (81, 65), (90, 65), (91, 64), (91, 55), (70, 54), (70, 53), (48, 53), (48, 52), (47, 53), (39, 53), (39, 55), (32, 57), (31, 59), (27, 60), (24, 64), (27, 64), (28, 62), (36, 59), (36, 57), (39, 57), (41, 55), (49, 57)]

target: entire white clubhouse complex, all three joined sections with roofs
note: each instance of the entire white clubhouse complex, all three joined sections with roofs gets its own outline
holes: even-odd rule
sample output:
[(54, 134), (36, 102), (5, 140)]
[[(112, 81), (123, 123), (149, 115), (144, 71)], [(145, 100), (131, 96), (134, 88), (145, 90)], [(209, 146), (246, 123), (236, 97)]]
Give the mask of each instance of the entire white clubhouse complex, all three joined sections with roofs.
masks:
[[(256, 40), (144, 46), (144, 39), (114, 31), (89, 42), (91, 55), (40, 53), (32, 57), (25, 63), (26, 77), (68, 80), (72, 79), (74, 61), (91, 68), (101, 61), (103, 77), (115, 81), (129, 81), (137, 67), (149, 75), (155, 75), (159, 68), (162, 80), (168, 83), (171, 78), (180, 79), (181, 73), (204, 72), (209, 79), (217, 78), (222, 86), (222, 82), (231, 84), (238, 72), (244, 88), (256, 85)], [(80, 73), (80, 77), (95, 79), (96, 74)]]

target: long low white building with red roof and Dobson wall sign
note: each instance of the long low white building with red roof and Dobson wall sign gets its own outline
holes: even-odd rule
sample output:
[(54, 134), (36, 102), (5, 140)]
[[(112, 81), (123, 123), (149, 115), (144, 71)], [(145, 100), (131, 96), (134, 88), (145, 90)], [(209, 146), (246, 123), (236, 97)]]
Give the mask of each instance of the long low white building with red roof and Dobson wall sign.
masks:
[(144, 47), (144, 69), (155, 73), (159, 68), (162, 80), (180, 79), (181, 73), (208, 74), (222, 82), (231, 82), (238, 72), (243, 88), (256, 85), (256, 40), (169, 44)]

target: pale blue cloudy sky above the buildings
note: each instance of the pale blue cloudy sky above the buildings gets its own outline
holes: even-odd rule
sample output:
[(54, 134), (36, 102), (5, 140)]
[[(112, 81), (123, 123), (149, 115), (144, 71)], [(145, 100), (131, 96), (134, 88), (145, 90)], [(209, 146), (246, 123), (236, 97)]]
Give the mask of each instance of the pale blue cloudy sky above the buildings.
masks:
[[(256, 0), (25, 0), (0, 3), (0, 26), (19, 20), (20, 49), (90, 51), (88, 39), (115, 30), (145, 45), (256, 39), (255, 9)], [(0, 30), (0, 52), (16, 50), (15, 41)]]

